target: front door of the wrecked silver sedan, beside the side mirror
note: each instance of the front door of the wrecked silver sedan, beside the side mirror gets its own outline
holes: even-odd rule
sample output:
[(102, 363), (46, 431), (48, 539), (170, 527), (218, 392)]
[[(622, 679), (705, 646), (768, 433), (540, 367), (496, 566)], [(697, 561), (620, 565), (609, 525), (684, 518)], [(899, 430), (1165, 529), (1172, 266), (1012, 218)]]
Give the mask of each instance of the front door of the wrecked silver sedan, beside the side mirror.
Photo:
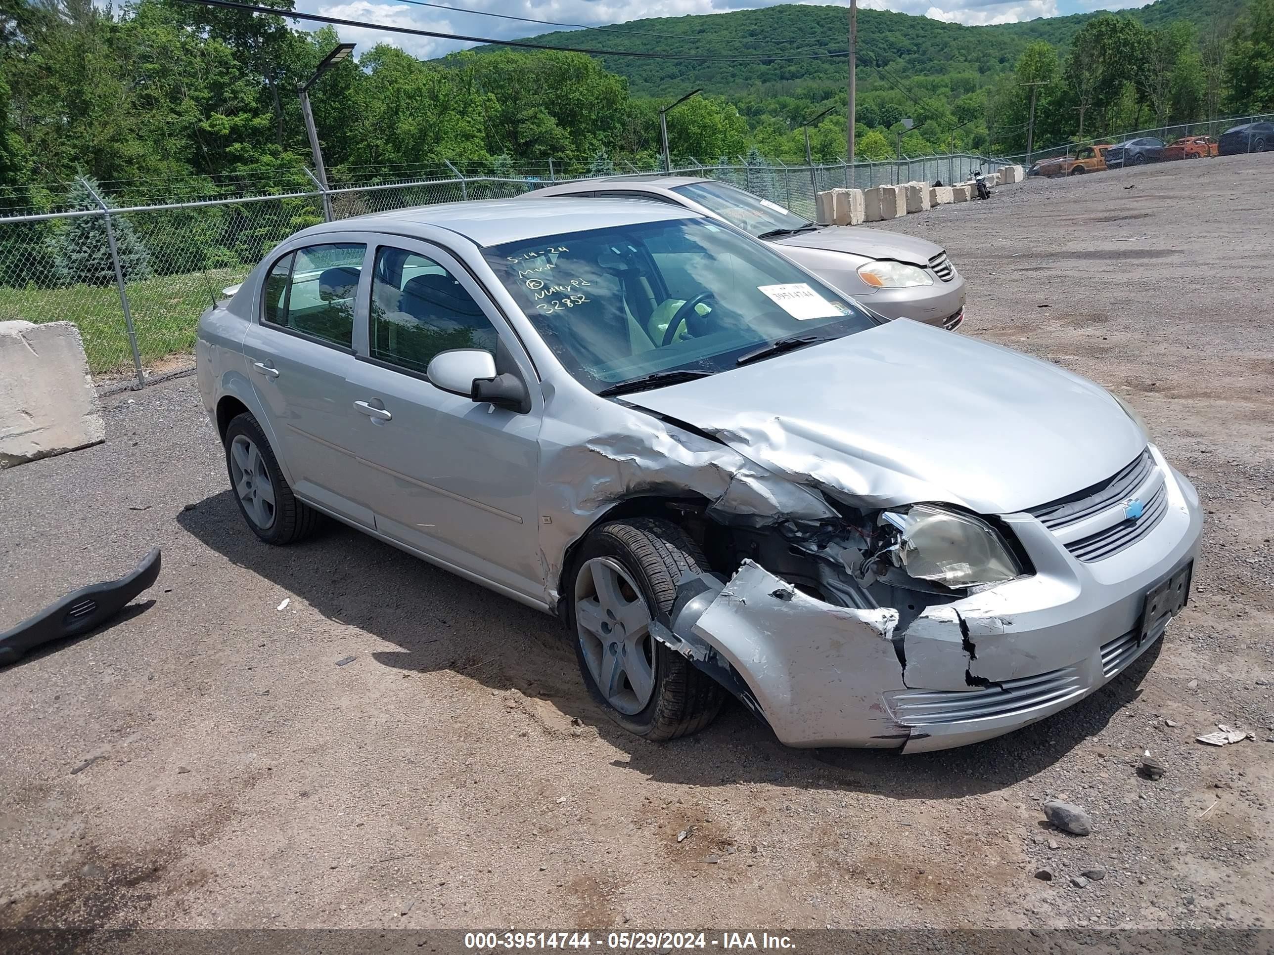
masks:
[[(503, 316), (445, 250), (395, 237), (368, 260), (367, 353), (350, 372), (353, 442), (376, 530), (434, 560), (544, 600), (536, 509), (541, 395)], [(478, 348), (516, 368), (520, 414), (441, 391), (429, 360)], [(512, 365), (512, 368), (511, 368)]]

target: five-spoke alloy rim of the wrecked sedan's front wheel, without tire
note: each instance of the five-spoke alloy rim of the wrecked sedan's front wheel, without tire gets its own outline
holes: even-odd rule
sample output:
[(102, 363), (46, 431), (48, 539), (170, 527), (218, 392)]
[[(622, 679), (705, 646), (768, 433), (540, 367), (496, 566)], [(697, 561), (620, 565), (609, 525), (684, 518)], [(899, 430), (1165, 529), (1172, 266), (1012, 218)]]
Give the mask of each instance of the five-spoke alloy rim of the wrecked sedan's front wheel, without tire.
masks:
[(655, 693), (650, 607), (632, 576), (612, 558), (594, 558), (575, 581), (577, 639), (606, 703), (641, 713)]

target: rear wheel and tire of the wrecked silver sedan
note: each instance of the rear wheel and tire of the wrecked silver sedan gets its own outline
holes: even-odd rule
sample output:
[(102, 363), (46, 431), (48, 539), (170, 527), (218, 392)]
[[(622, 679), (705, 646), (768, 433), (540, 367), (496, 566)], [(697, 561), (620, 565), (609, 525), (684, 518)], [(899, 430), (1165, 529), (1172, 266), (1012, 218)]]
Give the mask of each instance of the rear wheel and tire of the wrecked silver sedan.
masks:
[(225, 470), (240, 513), (266, 544), (296, 544), (318, 527), (322, 514), (292, 494), (265, 432), (251, 414), (225, 429)]

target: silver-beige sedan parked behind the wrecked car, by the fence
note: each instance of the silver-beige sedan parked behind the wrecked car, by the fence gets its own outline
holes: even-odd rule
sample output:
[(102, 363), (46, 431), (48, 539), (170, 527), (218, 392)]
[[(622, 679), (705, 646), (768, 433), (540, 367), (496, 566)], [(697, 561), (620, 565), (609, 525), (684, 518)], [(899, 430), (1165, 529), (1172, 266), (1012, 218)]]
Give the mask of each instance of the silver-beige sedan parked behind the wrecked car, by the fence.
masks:
[(943, 329), (964, 321), (964, 276), (933, 242), (882, 229), (818, 225), (727, 182), (692, 176), (610, 176), (548, 186), (526, 199), (553, 196), (646, 199), (679, 205), (773, 242), (827, 284), (885, 318)]

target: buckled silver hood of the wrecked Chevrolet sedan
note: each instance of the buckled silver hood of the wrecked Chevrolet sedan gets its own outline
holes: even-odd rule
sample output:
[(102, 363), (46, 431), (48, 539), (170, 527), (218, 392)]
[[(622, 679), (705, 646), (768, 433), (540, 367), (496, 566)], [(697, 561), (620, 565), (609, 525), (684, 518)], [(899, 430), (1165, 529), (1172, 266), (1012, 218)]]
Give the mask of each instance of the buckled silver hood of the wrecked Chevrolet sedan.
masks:
[(1147, 443), (1087, 378), (906, 320), (629, 400), (864, 508), (1015, 513), (1110, 478)]

